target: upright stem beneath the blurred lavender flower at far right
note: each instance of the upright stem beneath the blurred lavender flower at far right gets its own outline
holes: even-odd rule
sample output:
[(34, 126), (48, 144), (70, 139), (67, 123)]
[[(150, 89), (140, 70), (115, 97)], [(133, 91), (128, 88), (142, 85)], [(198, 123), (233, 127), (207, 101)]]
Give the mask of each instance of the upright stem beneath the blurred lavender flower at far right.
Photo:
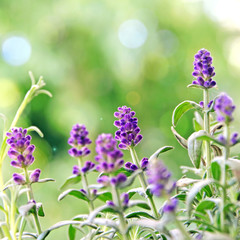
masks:
[(223, 160), (222, 160), (222, 165), (221, 165), (221, 184), (223, 187), (222, 190), (222, 209), (221, 209), (221, 229), (226, 232), (226, 224), (225, 224), (225, 219), (226, 219), (226, 214), (224, 211), (224, 206), (227, 201), (227, 176), (226, 176), (226, 161), (228, 160), (230, 156), (230, 131), (229, 131), (229, 124), (226, 123), (226, 126), (224, 128), (225, 133), (224, 137), (226, 139), (226, 146), (223, 149)]

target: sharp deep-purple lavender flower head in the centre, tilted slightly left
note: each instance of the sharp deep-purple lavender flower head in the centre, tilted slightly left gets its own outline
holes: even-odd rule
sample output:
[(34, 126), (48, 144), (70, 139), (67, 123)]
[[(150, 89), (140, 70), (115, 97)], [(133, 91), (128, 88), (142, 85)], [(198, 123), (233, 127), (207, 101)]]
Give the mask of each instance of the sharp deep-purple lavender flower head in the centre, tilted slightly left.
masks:
[(114, 125), (119, 129), (115, 133), (115, 139), (120, 142), (119, 148), (128, 149), (131, 146), (136, 146), (141, 140), (142, 135), (138, 127), (138, 119), (135, 112), (131, 108), (122, 106), (118, 108), (118, 112), (114, 116), (119, 120), (114, 122)]

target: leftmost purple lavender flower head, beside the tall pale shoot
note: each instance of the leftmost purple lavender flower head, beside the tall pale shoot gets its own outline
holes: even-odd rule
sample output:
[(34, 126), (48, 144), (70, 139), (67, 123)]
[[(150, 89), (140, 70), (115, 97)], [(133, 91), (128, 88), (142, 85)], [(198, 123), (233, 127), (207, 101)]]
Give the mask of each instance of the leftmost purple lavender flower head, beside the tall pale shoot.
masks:
[(10, 146), (8, 156), (13, 159), (11, 165), (16, 168), (27, 168), (34, 162), (32, 153), (35, 146), (31, 145), (31, 136), (27, 129), (12, 128), (7, 134), (7, 144)]

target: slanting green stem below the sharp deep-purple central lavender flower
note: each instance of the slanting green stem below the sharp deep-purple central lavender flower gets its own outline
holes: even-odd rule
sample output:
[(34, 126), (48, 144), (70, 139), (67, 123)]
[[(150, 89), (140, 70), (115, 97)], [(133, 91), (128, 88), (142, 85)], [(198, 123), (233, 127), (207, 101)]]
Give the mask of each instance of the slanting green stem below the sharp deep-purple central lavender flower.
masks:
[[(134, 164), (137, 165), (137, 167), (140, 169), (139, 159), (138, 159), (137, 153), (136, 153), (136, 151), (133, 147), (130, 147), (130, 154), (131, 154), (131, 157), (133, 159)], [(147, 182), (146, 182), (146, 179), (145, 179), (145, 176), (144, 176), (143, 172), (141, 172), (138, 176), (139, 176), (141, 186), (142, 186), (143, 190), (146, 192)], [(155, 205), (155, 202), (153, 200), (152, 195), (148, 195), (148, 201), (149, 201), (149, 204), (151, 206), (154, 217), (156, 219), (159, 219), (160, 215), (157, 211), (157, 208), (156, 208), (156, 205)]]

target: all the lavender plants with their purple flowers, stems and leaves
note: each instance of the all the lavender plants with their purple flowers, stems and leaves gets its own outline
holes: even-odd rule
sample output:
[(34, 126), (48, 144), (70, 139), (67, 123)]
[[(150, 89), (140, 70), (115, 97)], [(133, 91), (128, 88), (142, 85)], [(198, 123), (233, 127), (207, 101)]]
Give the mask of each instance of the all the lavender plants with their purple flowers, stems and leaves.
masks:
[[(240, 142), (238, 134), (231, 132), (235, 106), (226, 93), (209, 99), (216, 82), (207, 50), (195, 55), (192, 75), (194, 80), (188, 87), (202, 90), (203, 101), (183, 101), (172, 116), (172, 132), (192, 162), (192, 167), (181, 167), (184, 176), (175, 181), (159, 160), (173, 149), (171, 146), (139, 159), (136, 146), (143, 136), (136, 113), (127, 106), (119, 107), (114, 113), (115, 135), (100, 134), (95, 141), (96, 153), (88, 148), (94, 143), (85, 125), (75, 124), (70, 132), (69, 158), (76, 164), (72, 176), (60, 187), (58, 201), (66, 201), (68, 196), (85, 201), (88, 214), (76, 213), (70, 220), (42, 229), (39, 219), (44, 217), (43, 207), (34, 198), (32, 184), (54, 180), (41, 179), (41, 170), (31, 169), (35, 146), (29, 132), (37, 131), (42, 136), (41, 131), (37, 127), (17, 127), (17, 122), (32, 98), (51, 94), (43, 89), (43, 79), (36, 83), (30, 73), (32, 86), (4, 133), (0, 149), (0, 168), (7, 154), (10, 164), (17, 168), (7, 182), (0, 176), (1, 239), (48, 239), (52, 231), (64, 226), (68, 227), (69, 240), (240, 239), (240, 160), (231, 156), (231, 147)], [(195, 110), (195, 132), (185, 139), (175, 128), (190, 109)], [(124, 151), (130, 152), (131, 161), (124, 161)], [(96, 172), (96, 184), (90, 185), (88, 179)], [(133, 183), (139, 186), (135, 188)], [(26, 198), (20, 206), (21, 195)], [(157, 198), (162, 199), (161, 205)]]

